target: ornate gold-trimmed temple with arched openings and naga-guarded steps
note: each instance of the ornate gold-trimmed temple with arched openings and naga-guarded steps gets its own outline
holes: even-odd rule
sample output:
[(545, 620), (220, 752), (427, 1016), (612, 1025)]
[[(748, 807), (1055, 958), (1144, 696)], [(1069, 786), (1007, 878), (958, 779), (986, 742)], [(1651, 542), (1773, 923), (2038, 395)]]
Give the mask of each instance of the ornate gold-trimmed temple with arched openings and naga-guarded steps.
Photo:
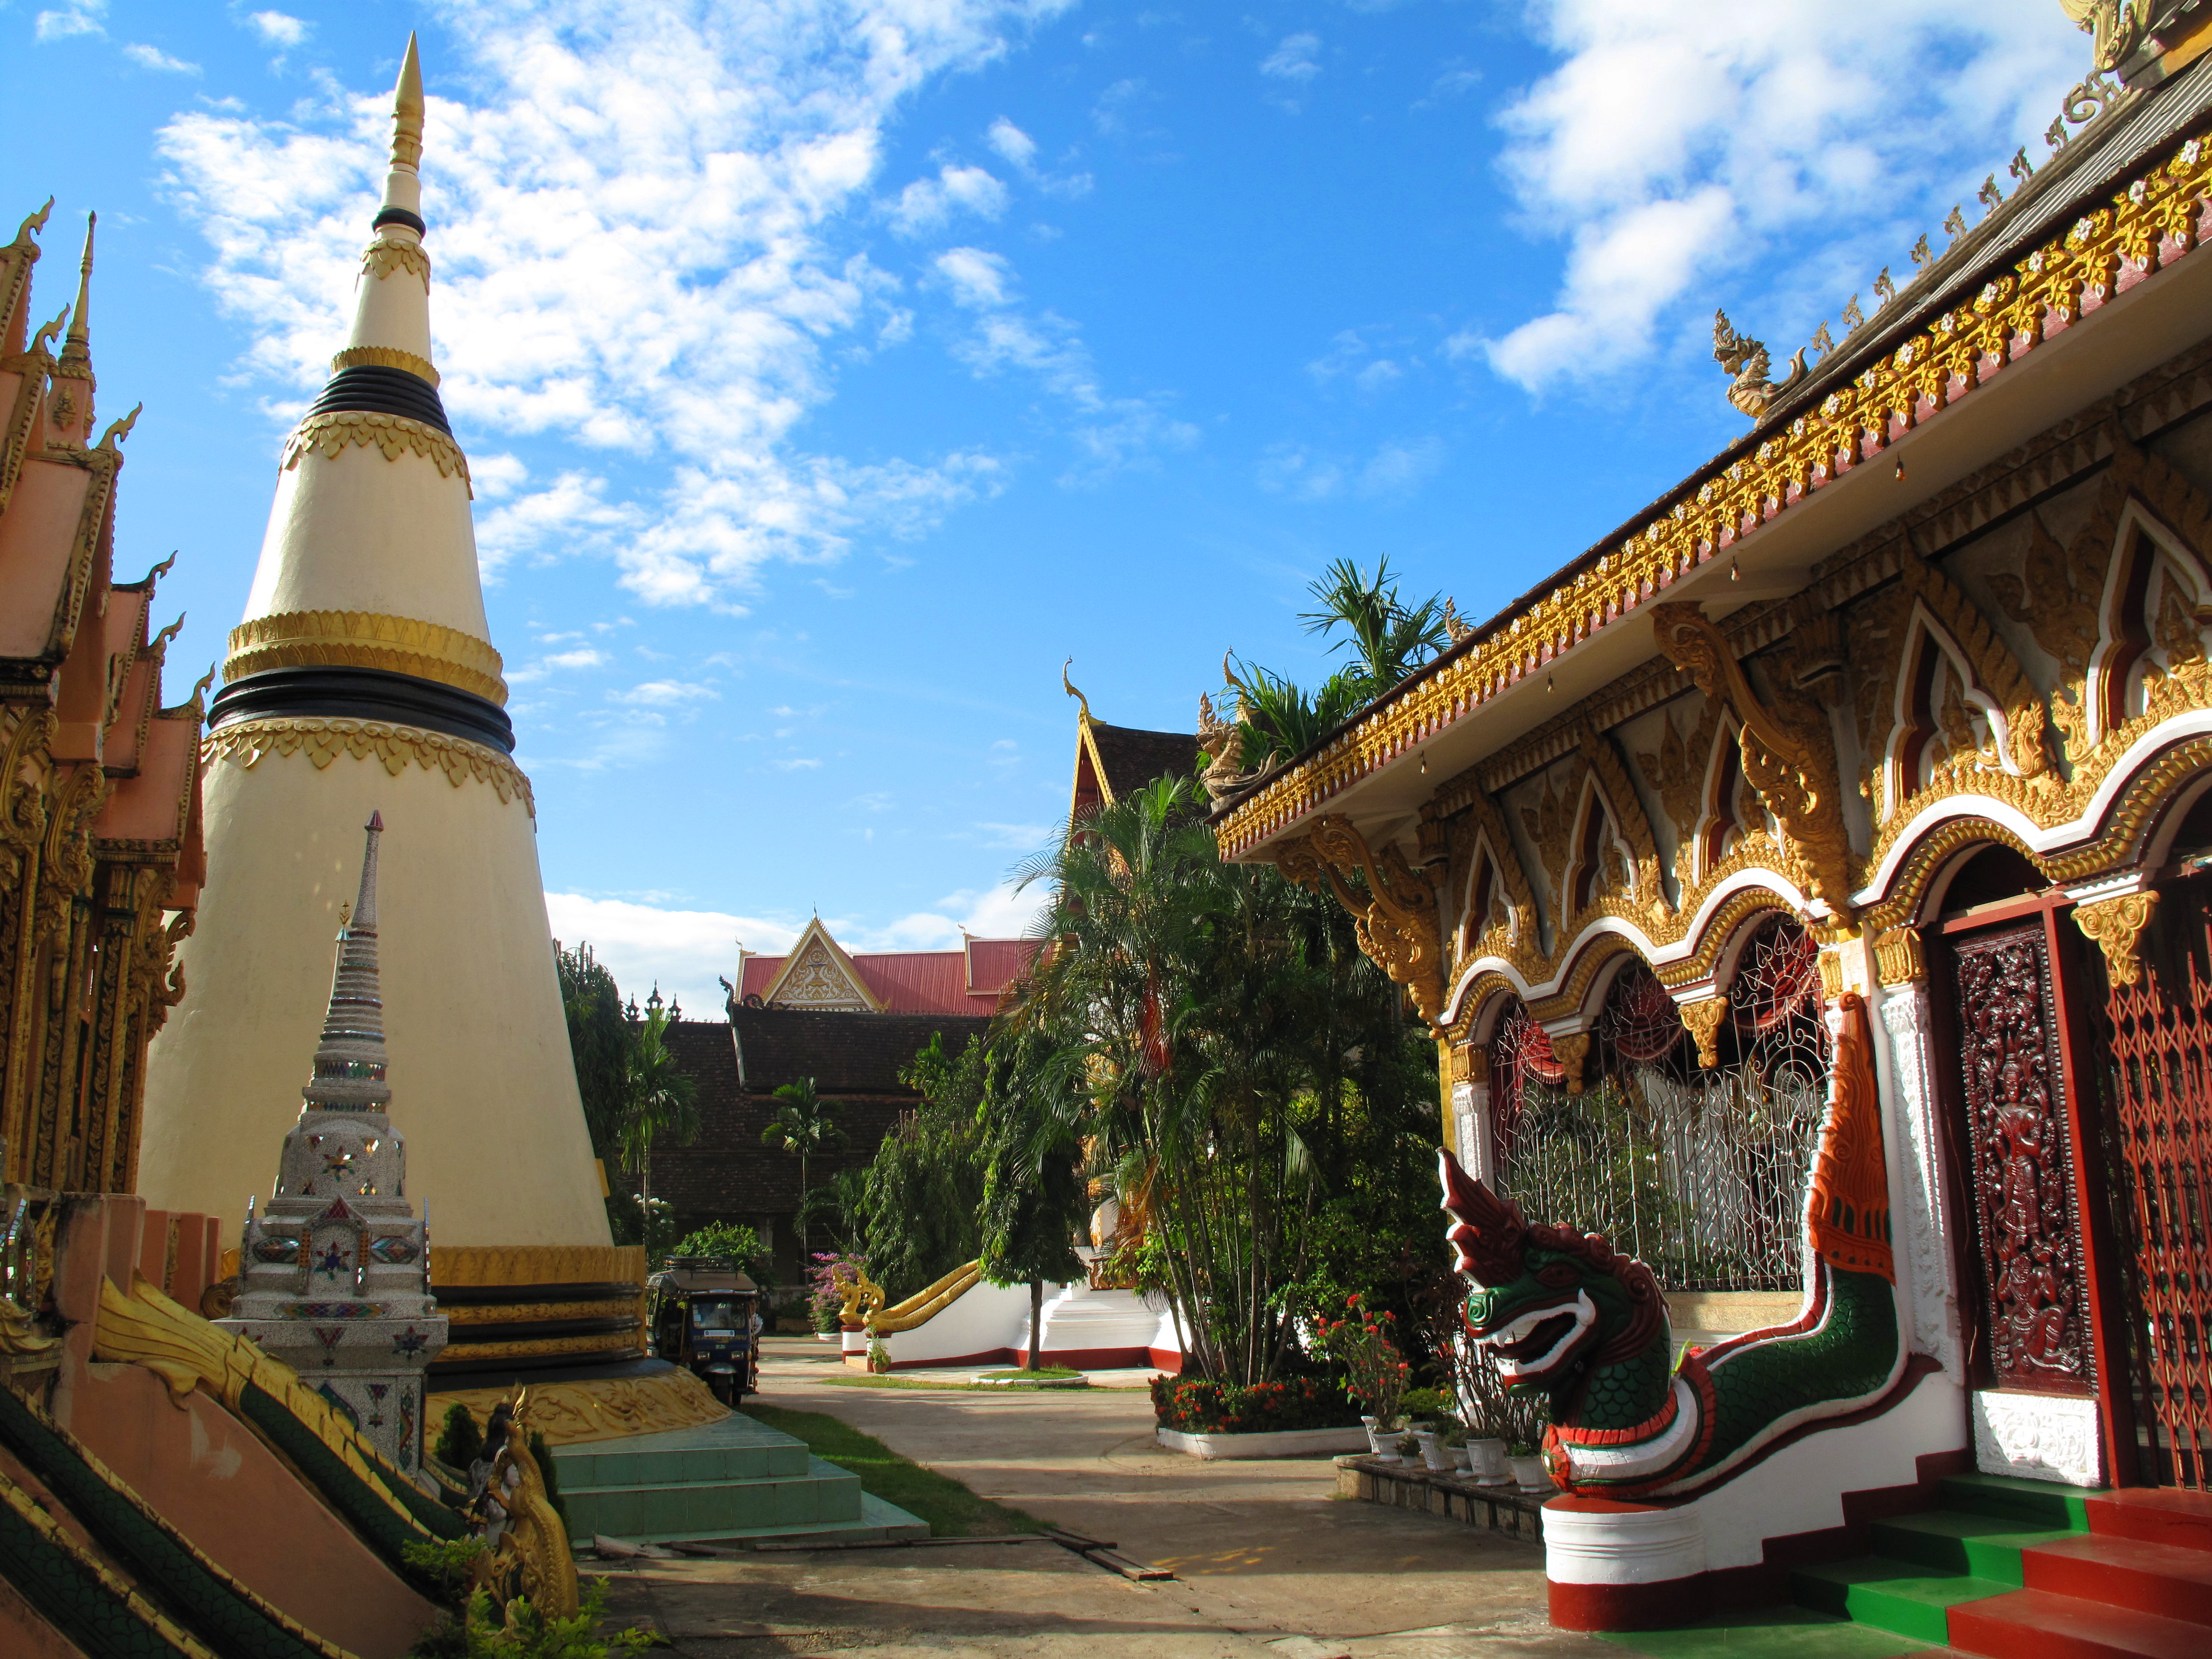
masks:
[[(1436, 1037), (1493, 1352), (1646, 1367), (1551, 1396), (1566, 1626), (2203, 1650), (2212, 11), (2066, 7), (2048, 155), (1778, 380), (1721, 316), (1734, 445), (1214, 810)], [(2004, 1517), (2081, 1537), (1891, 1559)]]

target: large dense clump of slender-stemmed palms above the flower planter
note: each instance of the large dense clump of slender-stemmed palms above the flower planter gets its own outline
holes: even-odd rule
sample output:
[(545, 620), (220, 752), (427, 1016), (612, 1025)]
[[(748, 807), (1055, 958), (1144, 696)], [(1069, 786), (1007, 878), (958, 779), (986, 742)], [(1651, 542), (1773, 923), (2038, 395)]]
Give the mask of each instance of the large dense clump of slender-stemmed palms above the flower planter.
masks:
[[(1062, 1144), (1093, 1135), (1146, 1217), (1190, 1367), (1248, 1385), (1303, 1363), (1296, 1314), (1338, 1254), (1323, 1217), (1358, 1239), (1433, 1206), (1433, 1046), (1334, 898), (1223, 865), (1194, 807), (1161, 779), (1024, 872), (1053, 887), (1053, 951), (1000, 1046), (1006, 1097)], [(1433, 1254), (1433, 1208), (1425, 1228)]]

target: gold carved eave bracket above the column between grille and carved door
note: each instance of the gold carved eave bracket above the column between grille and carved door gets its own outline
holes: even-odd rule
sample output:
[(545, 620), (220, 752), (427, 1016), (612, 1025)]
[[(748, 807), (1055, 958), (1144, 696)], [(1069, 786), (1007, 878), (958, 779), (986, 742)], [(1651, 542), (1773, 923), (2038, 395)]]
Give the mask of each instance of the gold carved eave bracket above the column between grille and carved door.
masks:
[(1796, 863), (1803, 863), (1809, 878), (1805, 885), (1827, 900), (1838, 922), (1849, 922), (1851, 847), (1836, 801), (1836, 752), (1827, 719), (1794, 692), (1767, 699), (1752, 692), (1721, 630), (1694, 604), (1655, 606), (1652, 619), (1661, 655), (1743, 721), (1736, 743), (1745, 781), (1759, 790), (1794, 845)]

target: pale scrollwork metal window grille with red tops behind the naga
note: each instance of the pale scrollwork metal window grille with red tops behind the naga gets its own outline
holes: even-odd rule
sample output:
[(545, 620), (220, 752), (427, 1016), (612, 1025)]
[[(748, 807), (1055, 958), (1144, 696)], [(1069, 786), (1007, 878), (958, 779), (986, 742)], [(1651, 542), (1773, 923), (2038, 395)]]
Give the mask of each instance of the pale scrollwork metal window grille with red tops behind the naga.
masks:
[(1827, 1108), (1818, 947), (1776, 916), (1728, 991), (1701, 1068), (1666, 987), (1628, 967), (1597, 1018), (1584, 1091), (1526, 1009), (1491, 1046), (1500, 1186), (1531, 1219), (1604, 1232), (1668, 1290), (1798, 1290), (1805, 1183)]

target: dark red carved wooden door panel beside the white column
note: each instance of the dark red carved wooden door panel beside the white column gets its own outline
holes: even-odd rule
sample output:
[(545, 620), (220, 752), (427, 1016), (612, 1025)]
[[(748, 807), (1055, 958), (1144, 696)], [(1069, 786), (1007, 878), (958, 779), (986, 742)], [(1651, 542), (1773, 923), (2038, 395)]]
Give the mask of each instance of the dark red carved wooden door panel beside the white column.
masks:
[(2042, 916), (1951, 940), (1975, 1358), (2000, 1389), (2097, 1391), (2062, 1011)]

